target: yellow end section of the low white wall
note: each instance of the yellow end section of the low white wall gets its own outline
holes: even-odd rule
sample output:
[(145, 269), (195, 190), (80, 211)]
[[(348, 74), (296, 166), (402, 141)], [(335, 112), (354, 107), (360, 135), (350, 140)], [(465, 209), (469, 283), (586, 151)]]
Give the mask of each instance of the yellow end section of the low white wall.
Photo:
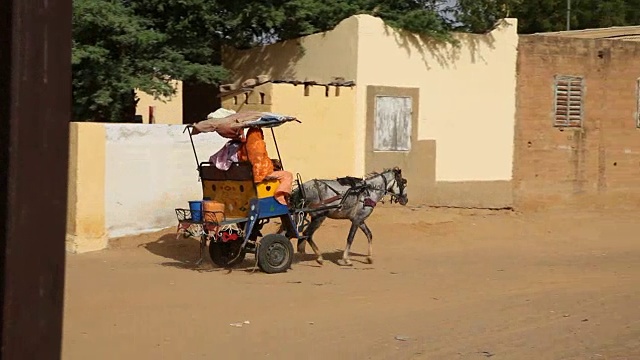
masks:
[(67, 251), (107, 247), (105, 229), (105, 127), (70, 123)]

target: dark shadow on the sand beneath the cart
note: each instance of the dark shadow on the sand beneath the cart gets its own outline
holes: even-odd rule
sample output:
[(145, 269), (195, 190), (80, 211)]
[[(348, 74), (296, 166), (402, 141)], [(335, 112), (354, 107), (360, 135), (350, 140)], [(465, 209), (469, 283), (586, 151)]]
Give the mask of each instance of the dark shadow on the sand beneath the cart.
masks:
[[(232, 267), (218, 267), (213, 264), (209, 257), (208, 246), (203, 249), (203, 260), (198, 264), (200, 258), (200, 241), (195, 238), (176, 237), (175, 234), (165, 234), (158, 240), (140, 245), (150, 253), (168, 259), (160, 263), (162, 266), (173, 267), (183, 270), (191, 270), (197, 272), (223, 272), (231, 273), (233, 271), (258, 272), (258, 264), (253, 254), (246, 254), (245, 259)], [(295, 254), (292, 265), (304, 261), (303, 254)], [(315, 260), (315, 257), (313, 258)]]

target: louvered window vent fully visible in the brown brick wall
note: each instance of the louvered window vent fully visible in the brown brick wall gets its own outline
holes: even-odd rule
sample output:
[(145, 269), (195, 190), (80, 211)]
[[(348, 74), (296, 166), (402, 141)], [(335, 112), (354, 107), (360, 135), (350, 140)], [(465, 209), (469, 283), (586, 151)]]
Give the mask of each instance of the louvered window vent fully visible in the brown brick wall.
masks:
[(553, 125), (581, 127), (584, 79), (579, 76), (556, 76)]

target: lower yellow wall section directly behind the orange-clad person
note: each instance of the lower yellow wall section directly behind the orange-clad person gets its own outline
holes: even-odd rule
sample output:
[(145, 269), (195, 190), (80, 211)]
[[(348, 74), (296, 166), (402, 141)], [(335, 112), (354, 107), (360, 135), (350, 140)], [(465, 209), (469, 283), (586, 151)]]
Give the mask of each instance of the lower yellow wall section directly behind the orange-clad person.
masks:
[[(275, 128), (285, 169), (300, 173), (303, 180), (360, 175), (355, 164), (353, 119), (356, 88), (273, 84), (271, 111), (296, 116), (299, 123)], [(328, 95), (328, 96), (327, 96)], [(276, 157), (271, 132), (265, 129), (265, 141), (272, 158)]]

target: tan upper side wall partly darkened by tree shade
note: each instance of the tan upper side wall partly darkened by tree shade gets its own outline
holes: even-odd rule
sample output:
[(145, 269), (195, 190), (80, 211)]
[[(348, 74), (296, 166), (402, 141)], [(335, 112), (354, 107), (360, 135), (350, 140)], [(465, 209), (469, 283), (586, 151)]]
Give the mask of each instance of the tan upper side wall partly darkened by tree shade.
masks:
[(351, 17), (333, 30), (299, 39), (238, 51), (225, 49), (223, 65), (233, 71), (230, 82), (270, 75), (280, 80), (328, 83), (333, 77), (354, 80), (358, 21)]

